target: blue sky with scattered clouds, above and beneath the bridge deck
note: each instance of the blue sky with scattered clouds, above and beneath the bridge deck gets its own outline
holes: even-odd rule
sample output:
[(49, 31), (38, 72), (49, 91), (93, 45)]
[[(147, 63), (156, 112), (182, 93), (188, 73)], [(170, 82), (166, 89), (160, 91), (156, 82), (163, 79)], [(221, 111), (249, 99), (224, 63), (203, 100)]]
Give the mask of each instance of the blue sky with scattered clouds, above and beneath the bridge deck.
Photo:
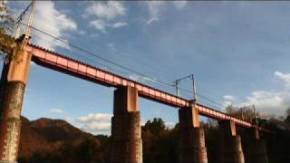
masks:
[[(28, 2), (9, 2), (14, 15)], [(164, 82), (194, 73), (198, 101), (222, 110), (255, 104), (262, 115), (290, 106), (289, 2), (37, 2), (34, 26)], [(156, 86), (33, 31), (32, 42)], [(182, 82), (190, 88), (190, 81)], [(23, 115), (65, 119), (92, 133), (110, 133), (113, 88), (31, 66)], [(182, 94), (190, 98), (188, 94)], [(217, 104), (218, 103), (218, 104)], [(217, 106), (218, 105), (218, 106)], [(178, 110), (140, 99), (142, 121), (178, 121)]]

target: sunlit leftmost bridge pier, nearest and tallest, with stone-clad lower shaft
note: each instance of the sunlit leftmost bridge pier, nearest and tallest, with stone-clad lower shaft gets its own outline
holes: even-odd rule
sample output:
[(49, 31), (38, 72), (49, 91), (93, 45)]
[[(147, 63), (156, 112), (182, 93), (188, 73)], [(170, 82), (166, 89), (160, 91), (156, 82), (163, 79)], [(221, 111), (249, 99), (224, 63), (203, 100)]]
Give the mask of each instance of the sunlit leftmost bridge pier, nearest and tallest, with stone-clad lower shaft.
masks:
[[(15, 48), (17, 49), (17, 48)], [(18, 155), (21, 110), (28, 80), (31, 53), (14, 50), (14, 59), (4, 64), (0, 90), (0, 162), (14, 163)]]

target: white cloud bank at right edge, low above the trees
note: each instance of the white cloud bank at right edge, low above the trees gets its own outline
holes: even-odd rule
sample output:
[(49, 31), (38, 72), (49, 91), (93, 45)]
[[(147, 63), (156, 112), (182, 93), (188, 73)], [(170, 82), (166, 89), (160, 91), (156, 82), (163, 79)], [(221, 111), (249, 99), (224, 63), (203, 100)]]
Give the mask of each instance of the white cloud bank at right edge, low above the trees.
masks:
[[(285, 115), (285, 110), (290, 107), (290, 73), (275, 72), (275, 77), (283, 81), (284, 87), (279, 91), (253, 91), (244, 102), (235, 103), (242, 107), (254, 104), (263, 115)], [(225, 101), (225, 103), (228, 101)]]

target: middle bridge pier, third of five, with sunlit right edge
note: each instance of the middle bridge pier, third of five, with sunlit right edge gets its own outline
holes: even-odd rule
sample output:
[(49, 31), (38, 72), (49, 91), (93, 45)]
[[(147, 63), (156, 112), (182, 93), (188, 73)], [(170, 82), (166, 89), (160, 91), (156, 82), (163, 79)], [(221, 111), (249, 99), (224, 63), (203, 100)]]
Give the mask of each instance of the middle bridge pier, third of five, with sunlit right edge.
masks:
[(194, 106), (179, 110), (179, 162), (208, 163), (204, 129)]

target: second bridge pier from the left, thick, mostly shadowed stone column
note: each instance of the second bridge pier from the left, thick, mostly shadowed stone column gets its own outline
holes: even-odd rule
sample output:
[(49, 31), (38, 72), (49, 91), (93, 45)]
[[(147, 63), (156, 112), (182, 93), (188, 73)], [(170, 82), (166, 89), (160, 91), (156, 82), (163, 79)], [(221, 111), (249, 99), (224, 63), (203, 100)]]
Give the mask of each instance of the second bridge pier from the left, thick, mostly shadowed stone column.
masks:
[(111, 163), (142, 163), (142, 140), (138, 90), (121, 87), (114, 91), (111, 119)]

